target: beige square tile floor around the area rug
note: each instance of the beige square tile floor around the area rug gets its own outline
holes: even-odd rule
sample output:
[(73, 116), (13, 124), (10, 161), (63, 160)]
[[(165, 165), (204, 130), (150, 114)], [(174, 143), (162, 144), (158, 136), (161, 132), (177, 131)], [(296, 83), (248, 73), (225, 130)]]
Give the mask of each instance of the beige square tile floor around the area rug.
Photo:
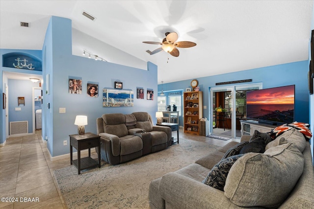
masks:
[[(176, 136), (176, 135), (175, 135)], [(203, 141), (223, 146), (228, 141), (184, 134), (180, 138)], [(93, 158), (97, 158), (93, 149)], [(84, 157), (84, 156), (82, 156)], [(0, 202), (1, 209), (67, 209), (54, 178), (53, 170), (70, 165), (70, 157), (50, 161), (47, 143), (41, 139), (41, 131), (26, 137), (9, 138), (0, 147), (0, 197), (18, 198), (18, 202)], [(20, 202), (21, 198), (34, 198), (32, 202)], [(38, 198), (39, 202), (36, 202)], [(23, 199), (24, 200), (24, 199)]]

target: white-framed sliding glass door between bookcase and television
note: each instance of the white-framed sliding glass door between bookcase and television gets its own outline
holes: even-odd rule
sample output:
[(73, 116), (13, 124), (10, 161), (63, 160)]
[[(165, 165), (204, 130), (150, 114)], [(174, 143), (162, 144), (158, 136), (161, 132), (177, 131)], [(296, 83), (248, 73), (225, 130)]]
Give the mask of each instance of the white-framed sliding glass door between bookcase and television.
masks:
[(210, 133), (240, 138), (240, 120), (246, 118), (246, 92), (257, 89), (262, 89), (262, 83), (209, 88)]

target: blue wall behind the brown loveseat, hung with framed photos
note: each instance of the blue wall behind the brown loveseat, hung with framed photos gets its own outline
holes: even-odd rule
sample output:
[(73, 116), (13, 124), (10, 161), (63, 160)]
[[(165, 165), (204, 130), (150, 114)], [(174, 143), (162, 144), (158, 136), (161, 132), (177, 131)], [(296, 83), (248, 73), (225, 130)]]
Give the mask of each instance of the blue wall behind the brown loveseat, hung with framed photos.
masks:
[[(86, 115), (88, 125), (85, 132), (97, 133), (96, 118), (106, 113), (123, 113), (144, 111), (152, 115), (156, 122), (157, 99), (134, 99), (133, 107), (102, 106), (103, 98), (86, 96), (87, 81), (99, 82), (99, 88), (114, 87), (114, 81), (123, 83), (124, 89), (136, 93), (136, 87), (157, 90), (157, 66), (148, 63), (148, 70), (140, 70), (108, 62), (95, 61), (73, 56), (71, 40), (71, 20), (52, 17), (48, 25), (43, 46), (43, 78), (46, 91), (46, 75), (50, 74), (50, 94), (44, 95), (43, 119), (46, 121), (43, 138), (48, 137), (47, 147), (52, 155), (69, 153), (69, 145), (63, 146), (63, 140), (77, 133), (74, 120), (77, 115)], [(53, 44), (52, 44), (53, 43)], [(69, 94), (69, 76), (82, 78), (83, 93)], [(157, 91), (156, 91), (157, 92)], [(136, 95), (136, 94), (135, 94)], [(50, 103), (50, 109), (47, 107)], [(59, 108), (66, 108), (65, 114)]]

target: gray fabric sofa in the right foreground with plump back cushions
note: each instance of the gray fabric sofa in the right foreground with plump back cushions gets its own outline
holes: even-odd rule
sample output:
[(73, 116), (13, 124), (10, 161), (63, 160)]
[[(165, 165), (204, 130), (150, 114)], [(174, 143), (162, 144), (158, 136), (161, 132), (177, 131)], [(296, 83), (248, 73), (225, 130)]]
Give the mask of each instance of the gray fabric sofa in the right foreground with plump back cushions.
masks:
[[(242, 136), (241, 142), (250, 139)], [(237, 146), (239, 143), (229, 142), (195, 163), (153, 180), (151, 209), (314, 209), (310, 144), (298, 130), (293, 128), (269, 142), (264, 153), (240, 156), (231, 165), (223, 190), (204, 184), (210, 171), (215, 174), (212, 168)]]

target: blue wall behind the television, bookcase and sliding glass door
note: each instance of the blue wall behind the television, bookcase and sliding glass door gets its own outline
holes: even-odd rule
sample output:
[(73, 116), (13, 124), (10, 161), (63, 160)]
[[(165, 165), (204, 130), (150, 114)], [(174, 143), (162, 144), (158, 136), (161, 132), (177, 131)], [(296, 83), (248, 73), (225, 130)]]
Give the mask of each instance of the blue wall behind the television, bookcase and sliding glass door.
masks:
[[(249, 83), (262, 82), (263, 89), (295, 85), (295, 120), (309, 122), (309, 91), (308, 91), (308, 60), (294, 62), (252, 70), (196, 78), (200, 91), (203, 91), (204, 117), (209, 118), (209, 88), (216, 87), (216, 83), (252, 79)], [(191, 88), (189, 80), (163, 84), (163, 91), (184, 90)], [(245, 83), (243, 83), (245, 84)], [(223, 86), (220, 86), (223, 87)], [(158, 85), (158, 92), (161, 92), (161, 85)]]

